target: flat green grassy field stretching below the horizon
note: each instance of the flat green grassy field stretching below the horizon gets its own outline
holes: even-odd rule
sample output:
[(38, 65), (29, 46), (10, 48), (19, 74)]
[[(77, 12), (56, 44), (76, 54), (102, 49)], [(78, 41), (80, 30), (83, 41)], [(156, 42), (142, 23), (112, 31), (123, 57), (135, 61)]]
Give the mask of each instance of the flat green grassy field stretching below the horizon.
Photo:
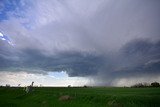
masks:
[(0, 107), (160, 107), (160, 88), (1, 87)]

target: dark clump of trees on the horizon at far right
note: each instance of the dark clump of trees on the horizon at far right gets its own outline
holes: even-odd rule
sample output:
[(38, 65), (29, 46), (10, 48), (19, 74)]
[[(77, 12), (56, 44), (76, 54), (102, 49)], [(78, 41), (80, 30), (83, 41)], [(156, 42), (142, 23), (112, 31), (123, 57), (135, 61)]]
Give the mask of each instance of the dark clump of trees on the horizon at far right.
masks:
[(137, 83), (131, 86), (132, 88), (140, 88), (140, 87), (160, 87), (160, 84), (158, 82), (152, 82), (152, 83)]

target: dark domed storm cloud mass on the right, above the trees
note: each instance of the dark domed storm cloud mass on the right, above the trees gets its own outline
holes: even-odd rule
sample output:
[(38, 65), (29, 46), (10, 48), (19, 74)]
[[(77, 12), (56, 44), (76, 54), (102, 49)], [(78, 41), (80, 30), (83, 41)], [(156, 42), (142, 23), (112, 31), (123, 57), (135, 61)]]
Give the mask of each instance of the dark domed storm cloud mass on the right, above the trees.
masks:
[(112, 66), (99, 74), (105, 81), (101, 83), (103, 85), (108, 80), (108, 84), (111, 84), (114, 79), (160, 75), (160, 41), (136, 39), (124, 45), (112, 57)]

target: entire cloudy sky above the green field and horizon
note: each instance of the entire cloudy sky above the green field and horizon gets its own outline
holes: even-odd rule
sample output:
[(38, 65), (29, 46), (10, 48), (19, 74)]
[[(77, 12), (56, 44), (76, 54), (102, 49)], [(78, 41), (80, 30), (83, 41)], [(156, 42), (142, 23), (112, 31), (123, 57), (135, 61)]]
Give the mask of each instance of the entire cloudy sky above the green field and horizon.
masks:
[(160, 82), (159, 0), (0, 0), (0, 85)]

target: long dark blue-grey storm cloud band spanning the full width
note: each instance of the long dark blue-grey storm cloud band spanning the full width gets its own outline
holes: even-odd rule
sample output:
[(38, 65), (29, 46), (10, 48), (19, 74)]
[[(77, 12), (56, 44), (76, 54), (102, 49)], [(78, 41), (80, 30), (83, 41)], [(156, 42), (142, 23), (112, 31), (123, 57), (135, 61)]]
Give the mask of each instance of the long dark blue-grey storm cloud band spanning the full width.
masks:
[(100, 73), (112, 79), (160, 73), (160, 41), (134, 40), (116, 54), (108, 55), (69, 51), (47, 56), (40, 50), (25, 49), (11, 53), (8, 48), (0, 53), (1, 71), (16, 68), (29, 72), (37, 70), (37, 73), (66, 71), (69, 76), (95, 76)]

